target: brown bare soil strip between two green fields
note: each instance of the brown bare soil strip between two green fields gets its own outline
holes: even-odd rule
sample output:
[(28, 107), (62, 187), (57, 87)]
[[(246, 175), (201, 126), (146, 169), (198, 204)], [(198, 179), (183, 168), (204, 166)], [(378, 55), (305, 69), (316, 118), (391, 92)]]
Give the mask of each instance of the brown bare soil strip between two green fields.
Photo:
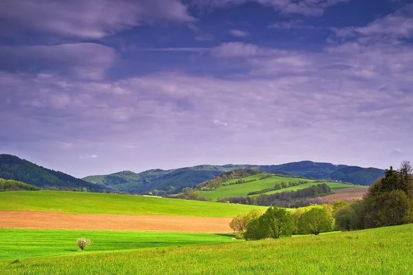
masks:
[(231, 218), (0, 211), (0, 228), (229, 233)]

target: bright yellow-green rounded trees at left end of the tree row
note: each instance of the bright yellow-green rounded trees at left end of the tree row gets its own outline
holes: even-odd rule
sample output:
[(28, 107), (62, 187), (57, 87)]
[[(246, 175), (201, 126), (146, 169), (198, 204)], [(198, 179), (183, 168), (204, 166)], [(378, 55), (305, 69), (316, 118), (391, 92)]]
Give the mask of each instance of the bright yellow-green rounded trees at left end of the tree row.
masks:
[(246, 240), (279, 239), (293, 234), (315, 234), (333, 230), (332, 206), (316, 206), (289, 212), (285, 208), (271, 206), (262, 213), (253, 210), (245, 216), (237, 216), (230, 226), (242, 233)]

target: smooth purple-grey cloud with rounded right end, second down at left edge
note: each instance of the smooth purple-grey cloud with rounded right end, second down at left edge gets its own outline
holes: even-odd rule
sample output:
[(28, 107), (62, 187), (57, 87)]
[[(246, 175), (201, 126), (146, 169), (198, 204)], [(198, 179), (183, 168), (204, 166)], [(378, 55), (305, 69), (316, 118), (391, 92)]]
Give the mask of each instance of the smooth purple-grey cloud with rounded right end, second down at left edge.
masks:
[(61, 72), (101, 79), (116, 61), (111, 47), (94, 43), (0, 47), (0, 69), (11, 72)]

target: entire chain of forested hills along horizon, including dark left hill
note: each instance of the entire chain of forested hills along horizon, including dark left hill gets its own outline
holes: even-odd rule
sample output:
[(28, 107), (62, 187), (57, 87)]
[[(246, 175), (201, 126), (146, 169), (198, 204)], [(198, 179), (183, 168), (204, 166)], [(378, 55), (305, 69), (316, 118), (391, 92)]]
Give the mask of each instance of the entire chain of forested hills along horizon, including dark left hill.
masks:
[(0, 177), (3, 179), (23, 181), (43, 189), (78, 189), (92, 192), (147, 194), (154, 191), (158, 195), (173, 194), (185, 187), (195, 188), (198, 184), (224, 172), (240, 168), (313, 179), (346, 181), (365, 186), (384, 175), (384, 170), (378, 168), (303, 161), (279, 165), (198, 165), (171, 170), (152, 169), (142, 173), (122, 171), (77, 179), (14, 155), (0, 155)]

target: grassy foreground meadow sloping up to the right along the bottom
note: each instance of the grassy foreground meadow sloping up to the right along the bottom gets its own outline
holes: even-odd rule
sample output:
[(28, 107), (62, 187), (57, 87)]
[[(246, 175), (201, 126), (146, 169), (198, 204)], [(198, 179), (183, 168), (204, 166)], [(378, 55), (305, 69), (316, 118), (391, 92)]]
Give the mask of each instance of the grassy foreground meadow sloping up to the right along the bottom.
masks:
[[(413, 225), (279, 240), (0, 261), (3, 274), (411, 274)], [(30, 272), (30, 273), (29, 273)]]

